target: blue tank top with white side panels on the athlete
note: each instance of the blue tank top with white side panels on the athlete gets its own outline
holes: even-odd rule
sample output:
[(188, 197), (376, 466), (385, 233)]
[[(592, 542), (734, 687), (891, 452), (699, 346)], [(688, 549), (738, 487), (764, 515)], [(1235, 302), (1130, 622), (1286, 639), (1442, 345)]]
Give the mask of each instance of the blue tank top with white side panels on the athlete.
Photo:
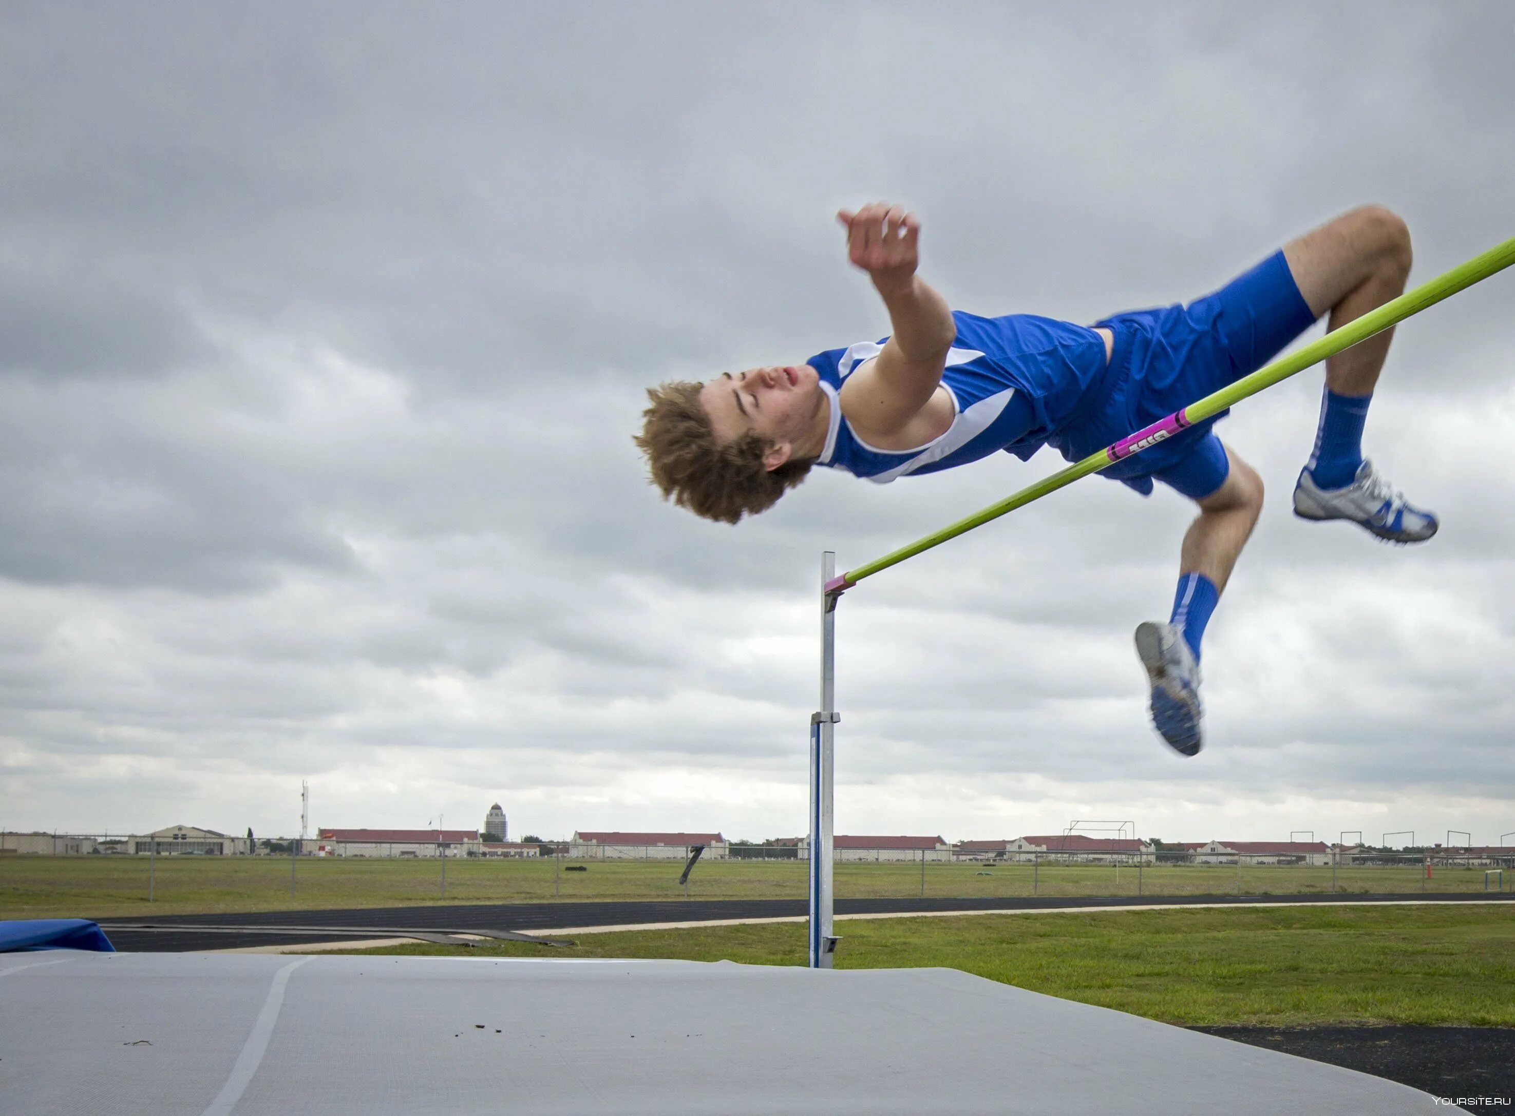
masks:
[(1026, 460), (1077, 419), (1091, 386), (1106, 371), (1104, 339), (1092, 329), (1053, 318), (1012, 313), (980, 318), (953, 310), (957, 338), (947, 353), (942, 385), (953, 400), (951, 426), (914, 450), (876, 450), (853, 433), (838, 392), (883, 341), (861, 341), (812, 356), (821, 391), (830, 397), (832, 424), (817, 465), (847, 469), (886, 485), (912, 472), (938, 472), (988, 457), (997, 450)]

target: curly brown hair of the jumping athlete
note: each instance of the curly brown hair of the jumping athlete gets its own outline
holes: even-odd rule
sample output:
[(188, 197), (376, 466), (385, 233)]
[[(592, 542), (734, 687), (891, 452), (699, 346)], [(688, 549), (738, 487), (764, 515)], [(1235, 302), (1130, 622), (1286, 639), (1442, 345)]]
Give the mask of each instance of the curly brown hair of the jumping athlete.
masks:
[(770, 471), (762, 463), (768, 445), (754, 430), (717, 442), (700, 403), (701, 386), (674, 380), (647, 389), (651, 403), (642, 412), (642, 433), (632, 441), (647, 454), (651, 483), (662, 489), (664, 500), (717, 522), (767, 512), (804, 480), (814, 459)]

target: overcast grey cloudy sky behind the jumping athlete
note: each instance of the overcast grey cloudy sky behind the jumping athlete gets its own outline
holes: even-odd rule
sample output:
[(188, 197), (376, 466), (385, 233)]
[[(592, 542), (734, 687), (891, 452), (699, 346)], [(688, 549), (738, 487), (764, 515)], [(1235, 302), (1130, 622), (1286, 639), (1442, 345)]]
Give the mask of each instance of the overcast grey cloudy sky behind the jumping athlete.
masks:
[[(0, 828), (804, 830), (818, 568), (1062, 462), (662, 503), (642, 389), (874, 339), (833, 214), (954, 307), (1195, 298), (1362, 201), (1515, 235), (1515, 17), (1389, 5), (0, 11)], [(1367, 450), (1429, 545), (1304, 524), (1320, 374), (1207, 747), (1132, 650), (1189, 507), (1091, 477), (850, 592), (838, 833), (1515, 830), (1515, 274), (1403, 326)], [(1400, 843), (1400, 842), (1395, 842)]]

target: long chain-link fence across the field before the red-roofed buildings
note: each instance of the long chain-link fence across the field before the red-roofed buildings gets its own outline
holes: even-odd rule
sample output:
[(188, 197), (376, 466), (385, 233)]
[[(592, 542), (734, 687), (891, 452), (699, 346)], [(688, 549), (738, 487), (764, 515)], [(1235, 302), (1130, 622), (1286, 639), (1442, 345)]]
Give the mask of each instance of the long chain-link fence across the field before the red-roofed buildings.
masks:
[[(292, 910), (427, 902), (612, 899), (803, 899), (803, 843), (703, 848), (547, 840), (512, 856), (432, 842), (371, 842), (362, 851), (312, 840), (112, 834), (0, 834), (0, 918), (120, 915), (145, 910)], [(839, 848), (835, 895), (861, 898), (1020, 899), (1206, 895), (1438, 895), (1515, 892), (1515, 846), (1326, 848), (1229, 853)], [(320, 854), (318, 854), (320, 853)], [(521, 854), (524, 853), (524, 856)], [(150, 904), (150, 906), (144, 906)]]

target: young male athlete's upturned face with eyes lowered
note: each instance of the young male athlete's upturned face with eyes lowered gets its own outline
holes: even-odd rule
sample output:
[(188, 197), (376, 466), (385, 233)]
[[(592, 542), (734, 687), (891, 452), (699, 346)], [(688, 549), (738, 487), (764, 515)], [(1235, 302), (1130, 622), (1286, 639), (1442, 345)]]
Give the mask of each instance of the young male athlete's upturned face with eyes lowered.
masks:
[[(821, 377), (811, 365), (788, 368), (750, 368), (745, 373), (721, 373), (700, 389), (700, 401), (711, 416), (711, 427), (720, 442), (741, 438), (754, 430), (771, 448), (764, 465), (776, 469), (786, 460), (815, 456), (826, 392)], [(821, 433), (824, 442), (824, 433)]]

